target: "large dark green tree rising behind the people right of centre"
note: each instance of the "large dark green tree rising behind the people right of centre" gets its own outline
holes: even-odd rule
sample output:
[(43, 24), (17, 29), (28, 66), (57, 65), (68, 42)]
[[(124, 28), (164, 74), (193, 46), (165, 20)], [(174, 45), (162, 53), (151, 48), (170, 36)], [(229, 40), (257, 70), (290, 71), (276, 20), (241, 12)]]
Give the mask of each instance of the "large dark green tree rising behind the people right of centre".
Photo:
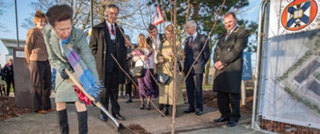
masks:
[[(220, 35), (224, 35), (227, 32), (223, 24), (223, 15), (225, 15), (227, 12), (235, 12), (236, 14), (243, 13), (245, 11), (243, 11), (242, 9), (245, 8), (245, 6), (249, 5), (249, 1), (247, 0), (238, 0), (227, 1), (226, 3), (224, 3), (224, 6), (222, 7), (222, 2), (223, 0), (177, 0), (176, 5), (178, 5), (178, 8), (176, 8), (176, 19), (177, 25), (179, 26), (178, 33), (181, 33), (181, 35), (178, 35), (178, 40), (183, 40), (187, 36), (184, 33), (183, 26), (186, 22), (185, 16), (187, 14), (187, 19), (194, 19), (197, 22), (197, 31), (199, 33), (204, 33), (205, 35), (208, 35), (208, 33), (211, 31), (211, 28), (213, 28), (213, 22), (218, 21), (218, 25), (215, 26), (209, 42), (209, 47), (213, 56), (213, 48), (214, 45), (218, 42), (218, 37), (220, 37)], [(155, 6), (159, 3), (163, 3), (160, 6), (162, 6), (162, 9), (165, 10), (165, 16), (167, 17), (166, 19), (171, 20), (172, 22), (172, 15), (170, 15), (171, 12), (169, 12), (169, 7), (172, 7), (170, 6), (170, 3), (172, 4), (172, 1), (151, 0), (150, 6)], [(218, 15), (218, 10), (221, 7), (222, 12), (220, 15)], [(188, 8), (190, 8), (190, 12), (187, 12)], [(254, 35), (257, 33), (257, 22), (248, 22), (246, 20), (238, 18), (238, 25), (241, 28), (247, 29), (250, 32), (250, 35)], [(247, 51), (255, 51), (256, 42), (256, 38), (250, 40), (250, 42), (248, 43)], [(213, 64), (211, 63), (212, 56), (208, 60), (206, 65), (206, 73), (204, 78), (204, 83), (206, 85), (208, 85), (208, 74), (210, 72), (211, 64)]]

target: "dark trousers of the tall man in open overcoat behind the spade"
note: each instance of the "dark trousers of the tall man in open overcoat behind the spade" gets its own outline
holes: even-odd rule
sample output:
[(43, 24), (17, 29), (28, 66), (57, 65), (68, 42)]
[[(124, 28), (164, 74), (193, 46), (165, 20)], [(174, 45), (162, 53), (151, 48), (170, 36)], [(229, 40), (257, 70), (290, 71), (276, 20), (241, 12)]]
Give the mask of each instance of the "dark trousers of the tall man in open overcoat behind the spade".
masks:
[[(108, 109), (109, 99), (111, 101), (112, 115), (118, 115), (120, 112), (120, 105), (118, 103), (119, 94), (119, 68), (118, 65), (114, 65), (112, 72), (105, 74), (105, 90), (101, 92), (100, 99), (102, 105)], [(102, 115), (105, 115), (102, 110)]]

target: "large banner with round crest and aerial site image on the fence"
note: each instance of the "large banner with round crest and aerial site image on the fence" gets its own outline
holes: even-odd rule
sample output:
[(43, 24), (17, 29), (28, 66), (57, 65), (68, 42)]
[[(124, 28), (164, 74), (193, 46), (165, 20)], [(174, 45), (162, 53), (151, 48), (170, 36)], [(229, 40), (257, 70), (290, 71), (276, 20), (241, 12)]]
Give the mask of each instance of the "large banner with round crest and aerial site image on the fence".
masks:
[(319, 3), (271, 0), (261, 69), (264, 119), (320, 128)]

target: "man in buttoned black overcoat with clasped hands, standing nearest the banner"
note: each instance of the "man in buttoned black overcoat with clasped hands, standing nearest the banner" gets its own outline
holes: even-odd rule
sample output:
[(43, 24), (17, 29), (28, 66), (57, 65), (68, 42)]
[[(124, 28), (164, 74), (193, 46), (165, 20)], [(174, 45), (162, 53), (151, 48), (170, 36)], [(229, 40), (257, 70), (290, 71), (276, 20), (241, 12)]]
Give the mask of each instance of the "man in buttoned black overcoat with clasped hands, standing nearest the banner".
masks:
[(227, 34), (220, 37), (213, 56), (215, 63), (213, 91), (218, 92), (218, 108), (222, 114), (220, 118), (214, 119), (214, 122), (228, 121), (227, 126), (236, 126), (241, 117), (242, 55), (249, 37), (249, 33), (239, 28), (236, 23), (234, 13), (229, 12), (224, 16)]

